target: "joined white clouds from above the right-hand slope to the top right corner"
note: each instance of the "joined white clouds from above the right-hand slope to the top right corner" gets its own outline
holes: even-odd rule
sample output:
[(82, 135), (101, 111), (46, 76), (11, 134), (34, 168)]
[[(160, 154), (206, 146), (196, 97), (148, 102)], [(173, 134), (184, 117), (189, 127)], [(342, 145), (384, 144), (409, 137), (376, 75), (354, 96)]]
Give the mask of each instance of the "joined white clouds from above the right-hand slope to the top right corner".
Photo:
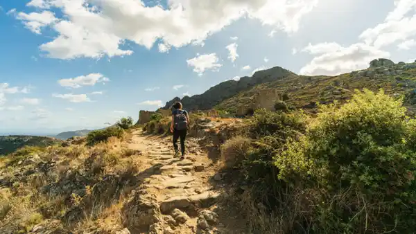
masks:
[(396, 44), (399, 49), (408, 50), (416, 45), (416, 1), (395, 0), (395, 8), (381, 24), (367, 28), (350, 46), (336, 42), (309, 44), (302, 52), (315, 55), (313, 60), (300, 69), (302, 75), (338, 75), (357, 69), (365, 69), (371, 60), (390, 57), (385, 46)]

